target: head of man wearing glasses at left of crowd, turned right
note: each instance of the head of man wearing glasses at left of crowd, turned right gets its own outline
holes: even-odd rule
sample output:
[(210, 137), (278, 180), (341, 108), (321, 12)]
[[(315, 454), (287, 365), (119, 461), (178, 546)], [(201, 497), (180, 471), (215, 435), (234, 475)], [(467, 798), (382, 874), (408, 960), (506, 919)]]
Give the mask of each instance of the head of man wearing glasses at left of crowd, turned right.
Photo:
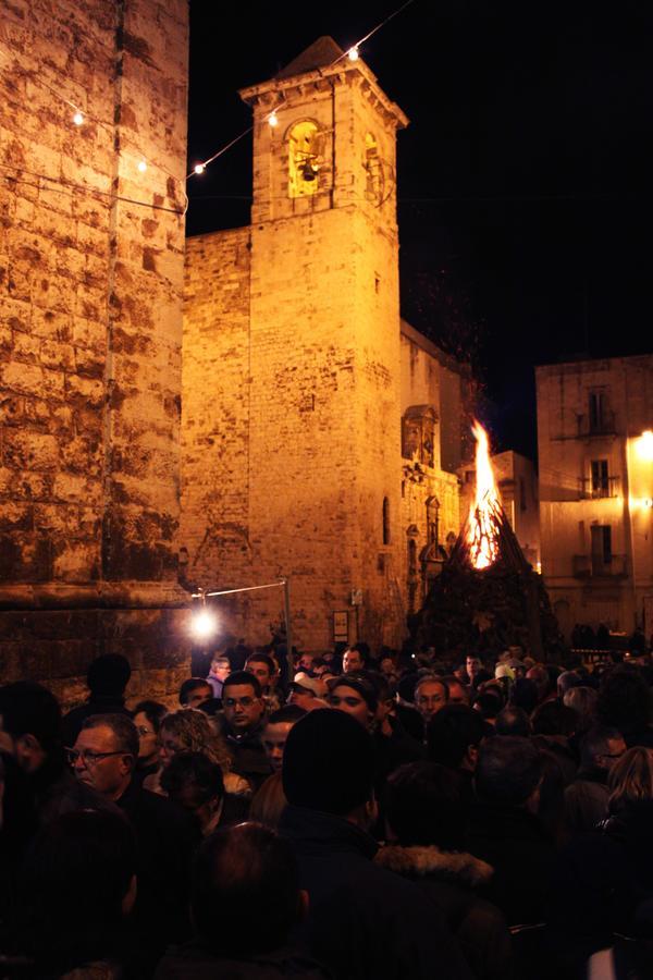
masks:
[(120, 799), (138, 758), (138, 732), (124, 714), (93, 714), (83, 722), (69, 762), (81, 783), (104, 799)]

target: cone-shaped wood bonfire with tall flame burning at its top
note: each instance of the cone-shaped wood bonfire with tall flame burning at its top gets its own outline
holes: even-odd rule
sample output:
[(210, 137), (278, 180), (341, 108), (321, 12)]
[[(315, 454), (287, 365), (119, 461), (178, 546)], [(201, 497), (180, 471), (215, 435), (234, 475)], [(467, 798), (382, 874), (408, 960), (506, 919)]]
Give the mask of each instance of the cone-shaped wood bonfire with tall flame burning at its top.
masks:
[(537, 660), (557, 659), (559, 632), (542, 577), (526, 561), (502, 506), (488, 436), (476, 422), (476, 498), (442, 573), (410, 623), (418, 645), (453, 657), (498, 657), (520, 646)]

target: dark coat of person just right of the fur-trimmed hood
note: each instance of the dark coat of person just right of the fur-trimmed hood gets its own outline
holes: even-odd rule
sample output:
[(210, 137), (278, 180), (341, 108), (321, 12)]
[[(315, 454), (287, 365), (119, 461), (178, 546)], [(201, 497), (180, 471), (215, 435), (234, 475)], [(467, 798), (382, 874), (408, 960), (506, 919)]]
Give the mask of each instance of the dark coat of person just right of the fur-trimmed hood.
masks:
[(520, 807), (477, 804), (467, 843), (494, 868), (482, 894), (498, 906), (508, 926), (542, 922), (554, 847), (538, 818)]

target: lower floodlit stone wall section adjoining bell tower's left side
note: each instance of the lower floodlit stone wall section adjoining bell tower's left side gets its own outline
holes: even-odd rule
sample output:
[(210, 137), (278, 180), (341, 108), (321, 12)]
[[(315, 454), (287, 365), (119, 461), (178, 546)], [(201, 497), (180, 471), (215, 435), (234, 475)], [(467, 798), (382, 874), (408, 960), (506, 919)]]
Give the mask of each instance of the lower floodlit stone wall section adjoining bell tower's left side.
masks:
[[(180, 543), (188, 581), (209, 590), (255, 584), (249, 267), (247, 228), (187, 242)], [(238, 628), (237, 608), (226, 601), (230, 628)]]

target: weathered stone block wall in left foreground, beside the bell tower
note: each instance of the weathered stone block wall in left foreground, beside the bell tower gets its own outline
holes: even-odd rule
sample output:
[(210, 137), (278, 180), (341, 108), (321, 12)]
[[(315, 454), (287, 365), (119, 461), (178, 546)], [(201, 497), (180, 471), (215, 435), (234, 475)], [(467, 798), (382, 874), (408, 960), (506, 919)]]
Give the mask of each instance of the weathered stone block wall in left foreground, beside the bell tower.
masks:
[(185, 0), (0, 0), (0, 670), (66, 700), (185, 670), (186, 74)]

